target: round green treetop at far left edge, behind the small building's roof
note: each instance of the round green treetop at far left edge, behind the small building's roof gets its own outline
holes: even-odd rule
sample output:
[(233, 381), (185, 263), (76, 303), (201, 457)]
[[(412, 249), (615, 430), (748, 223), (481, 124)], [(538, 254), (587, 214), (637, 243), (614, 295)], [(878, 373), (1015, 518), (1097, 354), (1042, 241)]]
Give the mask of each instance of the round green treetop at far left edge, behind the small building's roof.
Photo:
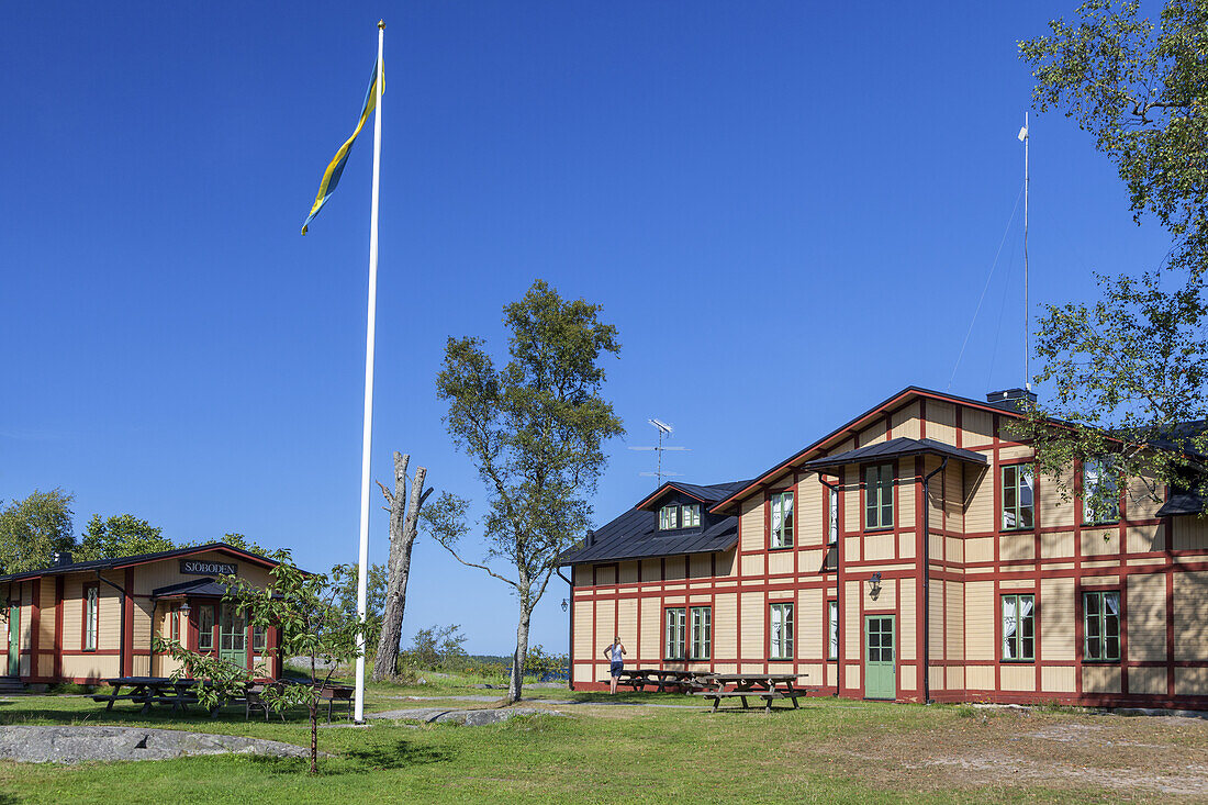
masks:
[(0, 573), (50, 567), (54, 554), (75, 546), (72, 499), (60, 488), (34, 490), (28, 498), (0, 509)]

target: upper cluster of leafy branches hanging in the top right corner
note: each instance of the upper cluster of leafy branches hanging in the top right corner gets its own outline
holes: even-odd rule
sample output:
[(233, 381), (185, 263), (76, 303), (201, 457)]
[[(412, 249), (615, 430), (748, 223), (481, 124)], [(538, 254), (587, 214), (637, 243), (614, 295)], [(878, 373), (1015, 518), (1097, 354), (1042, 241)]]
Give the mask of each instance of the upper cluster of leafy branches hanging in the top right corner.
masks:
[(1020, 42), (1039, 111), (1059, 109), (1094, 137), (1128, 186), (1178, 241), (1173, 266), (1208, 262), (1208, 0), (1169, 0), (1158, 23), (1136, 0), (1092, 0), (1078, 21)]

